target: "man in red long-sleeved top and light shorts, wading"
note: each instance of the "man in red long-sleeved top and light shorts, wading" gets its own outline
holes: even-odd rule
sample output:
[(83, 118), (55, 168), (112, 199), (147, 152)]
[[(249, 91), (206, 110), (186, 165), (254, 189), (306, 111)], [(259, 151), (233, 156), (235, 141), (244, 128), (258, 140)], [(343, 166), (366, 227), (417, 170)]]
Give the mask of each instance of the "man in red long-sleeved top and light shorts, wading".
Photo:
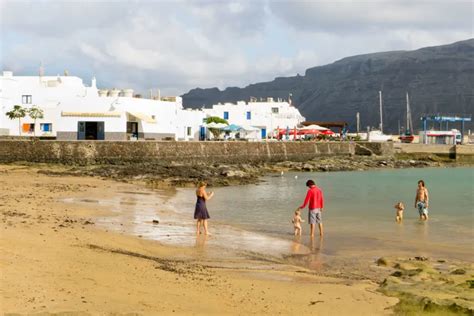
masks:
[(319, 235), (323, 236), (323, 222), (321, 213), (324, 207), (323, 191), (316, 186), (313, 180), (306, 181), (306, 186), (309, 188), (306, 193), (306, 198), (303, 204), (299, 207), (300, 209), (305, 208), (308, 204), (308, 223), (310, 225), (310, 236), (314, 236), (314, 225), (319, 226)]

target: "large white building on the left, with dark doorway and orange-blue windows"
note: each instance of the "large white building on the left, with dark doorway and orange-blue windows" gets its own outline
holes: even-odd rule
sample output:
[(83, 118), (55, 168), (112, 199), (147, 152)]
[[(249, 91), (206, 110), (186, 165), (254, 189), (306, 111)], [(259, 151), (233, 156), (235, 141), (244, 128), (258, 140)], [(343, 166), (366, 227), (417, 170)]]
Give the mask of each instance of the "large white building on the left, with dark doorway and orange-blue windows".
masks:
[[(51, 136), (59, 140), (197, 140), (204, 114), (183, 109), (180, 97), (142, 99), (133, 90), (98, 90), (70, 76), (0, 77), (0, 135)], [(44, 118), (10, 120), (14, 105), (36, 106)]]

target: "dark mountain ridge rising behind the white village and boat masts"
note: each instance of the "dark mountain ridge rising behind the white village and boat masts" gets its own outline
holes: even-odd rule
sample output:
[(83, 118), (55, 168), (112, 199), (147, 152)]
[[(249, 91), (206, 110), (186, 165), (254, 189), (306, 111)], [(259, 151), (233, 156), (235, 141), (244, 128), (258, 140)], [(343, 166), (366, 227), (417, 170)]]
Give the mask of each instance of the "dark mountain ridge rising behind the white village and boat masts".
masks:
[[(303, 76), (278, 77), (244, 88), (196, 88), (182, 98), (185, 107), (201, 108), (219, 102), (248, 101), (251, 97), (287, 100), (291, 93), (292, 104), (306, 120), (345, 121), (354, 131), (357, 112), (361, 130), (379, 126), (379, 91), (384, 132), (398, 133), (399, 126), (405, 125), (407, 92), (415, 130), (422, 128), (420, 117), (425, 114), (472, 116), (474, 39), (413, 51), (346, 57), (309, 68)], [(465, 128), (473, 126), (471, 122)]]

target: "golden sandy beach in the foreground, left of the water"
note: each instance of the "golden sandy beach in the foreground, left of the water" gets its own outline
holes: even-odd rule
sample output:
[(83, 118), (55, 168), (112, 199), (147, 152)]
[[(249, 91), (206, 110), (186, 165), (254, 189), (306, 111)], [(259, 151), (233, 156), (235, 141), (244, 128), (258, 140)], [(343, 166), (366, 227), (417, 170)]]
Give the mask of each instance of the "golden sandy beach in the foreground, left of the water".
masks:
[[(104, 228), (95, 219), (113, 217), (114, 205), (96, 201), (150, 191), (38, 173), (45, 168), (61, 169), (0, 166), (4, 313), (383, 315), (398, 302), (374, 282), (318, 276), (258, 252), (214, 247), (219, 234), (196, 238), (191, 229), (180, 233), (190, 244), (171, 246)], [(166, 193), (157, 195), (162, 225), (171, 211)]]

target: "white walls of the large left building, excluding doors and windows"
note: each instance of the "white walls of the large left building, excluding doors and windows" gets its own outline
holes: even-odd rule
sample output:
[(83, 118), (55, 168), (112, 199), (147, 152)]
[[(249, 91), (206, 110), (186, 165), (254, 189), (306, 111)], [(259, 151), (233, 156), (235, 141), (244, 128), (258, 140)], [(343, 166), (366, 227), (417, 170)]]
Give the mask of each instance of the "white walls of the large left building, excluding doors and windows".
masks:
[[(4, 72), (0, 77), (0, 131), (8, 129), (10, 135), (18, 135), (18, 120), (9, 120), (5, 113), (14, 105), (29, 108), (36, 105), (44, 111), (44, 119), (37, 120), (36, 135), (40, 132), (40, 123), (52, 123), (52, 133), (58, 131), (77, 132), (78, 121), (103, 121), (105, 132), (126, 132), (127, 112), (146, 115), (156, 122), (139, 120), (139, 132), (148, 134), (171, 134), (175, 138), (185, 139), (186, 127), (192, 127), (193, 134), (199, 131), (203, 114), (200, 111), (183, 110), (180, 97), (169, 100), (152, 100), (122, 96), (99, 97), (95, 79), (91, 86), (84, 85), (82, 79), (69, 76), (38, 77), (12, 76)], [(31, 104), (22, 104), (22, 95), (31, 95)], [(120, 112), (121, 117), (70, 117), (62, 116), (62, 112)], [(21, 123), (33, 123), (28, 116)], [(21, 133), (33, 135), (33, 133)], [(194, 139), (195, 136), (191, 137)]]

